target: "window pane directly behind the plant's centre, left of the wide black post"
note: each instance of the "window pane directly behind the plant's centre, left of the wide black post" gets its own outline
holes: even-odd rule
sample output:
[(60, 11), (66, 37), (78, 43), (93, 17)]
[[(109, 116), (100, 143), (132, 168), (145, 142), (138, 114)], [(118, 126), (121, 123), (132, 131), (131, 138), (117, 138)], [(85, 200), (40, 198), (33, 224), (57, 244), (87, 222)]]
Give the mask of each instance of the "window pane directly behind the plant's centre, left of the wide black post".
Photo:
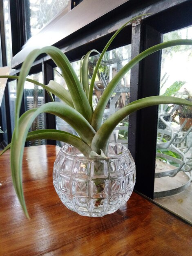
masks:
[[(109, 81), (115, 76), (115, 74), (130, 60), (131, 58), (131, 45), (126, 45), (122, 47), (118, 47), (111, 51), (106, 52), (103, 57), (103, 61), (100, 65), (99, 72), (96, 77), (95, 86), (94, 86), (94, 96), (93, 96), (93, 108), (96, 107), (100, 96), (102, 95), (103, 91), (105, 90)], [(98, 60), (98, 55), (90, 57), (89, 61), (89, 81), (91, 80), (94, 66)], [(72, 63), (74, 70), (79, 76), (79, 65), (80, 61), (76, 61)], [(67, 85), (65, 81), (59, 74), (58, 68), (55, 69), (54, 72), (54, 79), (62, 84), (65, 88)], [(125, 105), (129, 103), (129, 86), (130, 86), (130, 72), (128, 72), (121, 82), (117, 85), (116, 89), (114, 90), (112, 97), (107, 104), (105, 109), (104, 118), (107, 119), (109, 115), (114, 113), (119, 108), (123, 108)], [(56, 126), (60, 130), (69, 131), (69, 126), (61, 119), (56, 117)], [(74, 132), (74, 131), (73, 131)], [(74, 134), (76, 134), (74, 132)], [(111, 135), (110, 141), (121, 142), (127, 146), (127, 139), (128, 139), (128, 117), (125, 118), (121, 124), (116, 127), (114, 133)]]

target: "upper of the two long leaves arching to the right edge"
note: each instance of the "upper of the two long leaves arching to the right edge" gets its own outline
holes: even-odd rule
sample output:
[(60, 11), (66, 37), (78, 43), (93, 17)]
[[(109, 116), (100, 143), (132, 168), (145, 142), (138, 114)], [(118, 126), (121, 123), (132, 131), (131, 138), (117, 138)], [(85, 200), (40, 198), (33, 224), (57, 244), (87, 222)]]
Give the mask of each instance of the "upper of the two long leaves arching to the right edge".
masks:
[(152, 46), (149, 49), (145, 50), (144, 52), (138, 54), (136, 57), (134, 57), (129, 63), (127, 63), (117, 74), (114, 76), (114, 78), (109, 82), (107, 85), (107, 88), (105, 88), (103, 94), (101, 95), (96, 109), (94, 111), (94, 115), (92, 118), (92, 126), (97, 131), (102, 123), (103, 113), (105, 110), (105, 107), (107, 105), (107, 102), (109, 101), (109, 98), (111, 97), (111, 94), (113, 93), (114, 89), (116, 88), (116, 85), (121, 81), (122, 77), (132, 68), (134, 65), (136, 65), (139, 61), (143, 60), (143, 58), (147, 57), (148, 55), (159, 51), (161, 49), (174, 46), (174, 45), (192, 45), (192, 40), (189, 39), (181, 39), (181, 40), (172, 40), (165, 43), (160, 43), (158, 45)]

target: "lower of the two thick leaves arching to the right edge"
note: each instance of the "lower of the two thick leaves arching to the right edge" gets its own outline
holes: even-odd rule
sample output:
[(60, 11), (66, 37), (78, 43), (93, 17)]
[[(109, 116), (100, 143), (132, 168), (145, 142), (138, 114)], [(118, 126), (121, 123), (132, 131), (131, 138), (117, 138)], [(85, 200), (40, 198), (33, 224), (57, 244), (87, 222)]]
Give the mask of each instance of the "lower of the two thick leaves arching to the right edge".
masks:
[(124, 108), (116, 111), (110, 117), (107, 118), (105, 123), (100, 127), (96, 132), (91, 144), (92, 150), (96, 153), (100, 153), (100, 149), (106, 154), (109, 137), (112, 134), (115, 127), (120, 123), (125, 117), (131, 113), (150, 106), (159, 105), (159, 104), (176, 104), (176, 105), (187, 105), (192, 107), (192, 102), (185, 99), (180, 99), (176, 97), (168, 96), (152, 96), (143, 99), (138, 99), (129, 103)]

